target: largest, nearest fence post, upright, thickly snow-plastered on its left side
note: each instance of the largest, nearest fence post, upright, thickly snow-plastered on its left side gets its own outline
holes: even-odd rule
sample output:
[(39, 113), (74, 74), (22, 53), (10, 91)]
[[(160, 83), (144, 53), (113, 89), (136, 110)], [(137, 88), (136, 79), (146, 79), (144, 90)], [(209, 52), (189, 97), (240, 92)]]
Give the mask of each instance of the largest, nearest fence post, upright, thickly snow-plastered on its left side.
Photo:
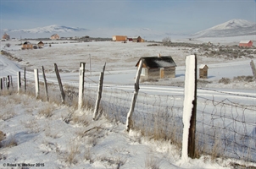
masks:
[(197, 117), (197, 57), (186, 57), (186, 74), (183, 106), (182, 158), (195, 158), (195, 134)]

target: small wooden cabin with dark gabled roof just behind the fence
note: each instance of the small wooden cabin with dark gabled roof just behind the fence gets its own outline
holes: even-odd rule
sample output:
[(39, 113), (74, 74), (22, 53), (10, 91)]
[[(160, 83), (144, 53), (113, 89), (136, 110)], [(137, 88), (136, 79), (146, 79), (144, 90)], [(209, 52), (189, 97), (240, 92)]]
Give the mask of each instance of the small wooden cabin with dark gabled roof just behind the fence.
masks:
[(144, 60), (142, 66), (141, 80), (157, 80), (164, 78), (175, 78), (176, 63), (172, 57), (141, 57), (136, 63), (136, 67), (139, 66), (141, 60)]

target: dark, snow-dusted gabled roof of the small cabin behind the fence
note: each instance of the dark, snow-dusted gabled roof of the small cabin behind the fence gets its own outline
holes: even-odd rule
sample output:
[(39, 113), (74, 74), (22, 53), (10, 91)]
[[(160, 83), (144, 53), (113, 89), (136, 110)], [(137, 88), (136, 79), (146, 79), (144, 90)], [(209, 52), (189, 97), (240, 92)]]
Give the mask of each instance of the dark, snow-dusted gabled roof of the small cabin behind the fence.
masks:
[(140, 61), (144, 59), (144, 65), (147, 68), (169, 68), (176, 67), (175, 61), (170, 56), (166, 57), (141, 57), (136, 63), (136, 67), (139, 65)]

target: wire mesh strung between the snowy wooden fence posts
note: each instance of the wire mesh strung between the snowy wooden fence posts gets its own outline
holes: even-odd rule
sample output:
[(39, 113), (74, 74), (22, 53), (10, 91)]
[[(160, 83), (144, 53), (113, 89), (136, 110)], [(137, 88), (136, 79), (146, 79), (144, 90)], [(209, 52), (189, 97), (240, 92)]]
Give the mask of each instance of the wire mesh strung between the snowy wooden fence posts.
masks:
[[(35, 91), (34, 83), (33, 80), (27, 81), (27, 92)], [(42, 98), (42, 82), (40, 90)], [(50, 100), (60, 100), (57, 85), (50, 83), (48, 91)], [(65, 104), (74, 106), (78, 88), (70, 83), (64, 84), (64, 92)], [(124, 90), (119, 89), (119, 85), (104, 85), (101, 100), (104, 116), (111, 121), (125, 123), (132, 95), (133, 90), (129, 88)], [(96, 98), (96, 82), (85, 84), (85, 105), (93, 108)], [(133, 128), (139, 129), (142, 135), (153, 139), (170, 139), (172, 143), (181, 146), (183, 101), (184, 95), (150, 95), (139, 92), (132, 117)], [(198, 156), (207, 154), (256, 162), (256, 105), (242, 105), (230, 99), (217, 100), (198, 96), (196, 125)]]

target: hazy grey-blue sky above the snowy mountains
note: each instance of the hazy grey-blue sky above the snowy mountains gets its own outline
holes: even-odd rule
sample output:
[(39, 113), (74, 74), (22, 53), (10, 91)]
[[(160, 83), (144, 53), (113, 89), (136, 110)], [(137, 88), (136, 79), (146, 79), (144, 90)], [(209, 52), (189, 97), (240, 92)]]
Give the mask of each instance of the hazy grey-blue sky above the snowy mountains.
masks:
[(256, 23), (256, 0), (0, 0), (1, 29), (65, 25), (194, 33), (230, 19)]

